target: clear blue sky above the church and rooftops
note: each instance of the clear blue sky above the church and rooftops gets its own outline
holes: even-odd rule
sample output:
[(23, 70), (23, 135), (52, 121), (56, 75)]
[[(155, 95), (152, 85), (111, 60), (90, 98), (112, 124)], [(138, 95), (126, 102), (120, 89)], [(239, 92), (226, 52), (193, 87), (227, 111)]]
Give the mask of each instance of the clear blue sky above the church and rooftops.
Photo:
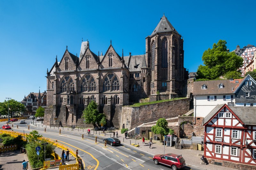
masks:
[(145, 38), (165, 16), (184, 38), (184, 67), (196, 71), (202, 54), (220, 39), (230, 51), (256, 45), (255, 1), (0, 1), (0, 102), (46, 90), (46, 71), (66, 46), (80, 52), (82, 38), (103, 55), (140, 55)]

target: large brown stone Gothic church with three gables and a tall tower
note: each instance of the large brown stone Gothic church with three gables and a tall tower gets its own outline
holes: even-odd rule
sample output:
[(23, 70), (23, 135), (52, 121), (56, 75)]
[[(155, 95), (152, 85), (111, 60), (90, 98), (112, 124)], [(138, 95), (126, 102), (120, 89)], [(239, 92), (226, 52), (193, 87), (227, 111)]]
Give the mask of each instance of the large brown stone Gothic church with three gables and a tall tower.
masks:
[(90, 101), (98, 103), (108, 126), (120, 127), (122, 106), (140, 99), (156, 100), (186, 94), (183, 39), (163, 16), (146, 37), (146, 54), (120, 56), (110, 45), (105, 55), (93, 53), (82, 42), (80, 55), (64, 52), (47, 69), (46, 124), (83, 126), (82, 112)]

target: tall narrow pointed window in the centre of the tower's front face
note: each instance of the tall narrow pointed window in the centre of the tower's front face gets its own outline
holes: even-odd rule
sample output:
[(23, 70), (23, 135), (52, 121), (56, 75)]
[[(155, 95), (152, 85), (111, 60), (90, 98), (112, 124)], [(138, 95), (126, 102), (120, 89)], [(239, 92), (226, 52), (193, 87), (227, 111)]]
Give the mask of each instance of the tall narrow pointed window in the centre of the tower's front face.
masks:
[(168, 41), (166, 38), (162, 41), (162, 80), (166, 80), (168, 77)]

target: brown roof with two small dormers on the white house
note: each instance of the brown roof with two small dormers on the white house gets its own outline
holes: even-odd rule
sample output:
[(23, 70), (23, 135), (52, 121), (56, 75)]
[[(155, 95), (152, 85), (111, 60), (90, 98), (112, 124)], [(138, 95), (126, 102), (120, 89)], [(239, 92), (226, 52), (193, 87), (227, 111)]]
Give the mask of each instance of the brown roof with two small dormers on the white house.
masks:
[[(237, 85), (242, 79), (235, 80), (212, 80), (212, 81), (196, 81), (194, 82), (193, 95), (207, 95), (207, 94), (228, 94), (233, 93)], [(239, 83), (236, 83), (238, 81)], [(220, 84), (223, 84), (223, 88), (219, 88)], [(206, 89), (202, 89), (202, 86), (206, 85)], [(233, 88), (233, 89), (232, 89)]]

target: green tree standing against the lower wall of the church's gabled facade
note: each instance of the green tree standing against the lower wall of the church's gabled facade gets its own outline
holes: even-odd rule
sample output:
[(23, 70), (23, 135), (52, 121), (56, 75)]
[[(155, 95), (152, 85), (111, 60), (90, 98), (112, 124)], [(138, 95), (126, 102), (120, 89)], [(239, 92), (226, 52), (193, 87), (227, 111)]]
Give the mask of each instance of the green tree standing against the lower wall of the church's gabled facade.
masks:
[(99, 113), (98, 104), (95, 101), (91, 101), (88, 106), (84, 109), (82, 118), (84, 118), (84, 123), (93, 124), (94, 128), (96, 123), (100, 122), (103, 117), (106, 117), (104, 114)]

